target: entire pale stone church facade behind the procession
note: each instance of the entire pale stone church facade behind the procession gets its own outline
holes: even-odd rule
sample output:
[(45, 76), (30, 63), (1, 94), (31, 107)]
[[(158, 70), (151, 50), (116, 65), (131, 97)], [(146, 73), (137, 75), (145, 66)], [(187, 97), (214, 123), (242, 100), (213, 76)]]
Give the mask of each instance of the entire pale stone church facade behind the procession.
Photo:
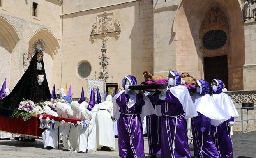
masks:
[(7, 77), (7, 87), (16, 85), (41, 39), (50, 89), (72, 82), (74, 97), (86, 79), (99, 77), (103, 41), (107, 83), (128, 74), (140, 83), (145, 70), (176, 70), (219, 78), (228, 90), (256, 89), (254, 6), (244, 0), (0, 0), (0, 84)]

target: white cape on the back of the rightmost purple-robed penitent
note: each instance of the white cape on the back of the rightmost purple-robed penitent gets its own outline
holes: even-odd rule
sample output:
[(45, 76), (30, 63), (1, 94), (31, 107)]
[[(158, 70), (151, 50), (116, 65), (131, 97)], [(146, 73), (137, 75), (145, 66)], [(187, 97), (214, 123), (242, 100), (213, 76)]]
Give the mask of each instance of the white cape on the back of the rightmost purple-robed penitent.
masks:
[(219, 105), (229, 117), (238, 118), (239, 114), (235, 108), (235, 105), (228, 94), (220, 93), (220, 94), (212, 94), (212, 98), (217, 105)]

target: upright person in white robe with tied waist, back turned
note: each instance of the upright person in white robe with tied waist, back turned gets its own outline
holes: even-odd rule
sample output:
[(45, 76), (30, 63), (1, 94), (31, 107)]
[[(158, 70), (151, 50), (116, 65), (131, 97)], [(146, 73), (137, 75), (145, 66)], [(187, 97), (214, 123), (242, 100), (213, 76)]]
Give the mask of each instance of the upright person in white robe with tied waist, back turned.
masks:
[(96, 131), (97, 131), (97, 149), (109, 150), (108, 147), (115, 150), (115, 137), (113, 132), (113, 98), (108, 95), (106, 100), (99, 103), (96, 114)]

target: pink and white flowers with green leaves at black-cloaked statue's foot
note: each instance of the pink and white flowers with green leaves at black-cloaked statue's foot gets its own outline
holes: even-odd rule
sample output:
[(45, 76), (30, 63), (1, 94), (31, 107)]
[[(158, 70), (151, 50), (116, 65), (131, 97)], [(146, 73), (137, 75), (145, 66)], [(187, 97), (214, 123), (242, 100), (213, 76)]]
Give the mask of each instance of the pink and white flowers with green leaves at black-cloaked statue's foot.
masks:
[(20, 102), (18, 108), (12, 113), (12, 118), (22, 117), (24, 121), (27, 121), (32, 115), (42, 114), (43, 112), (42, 106), (27, 99)]

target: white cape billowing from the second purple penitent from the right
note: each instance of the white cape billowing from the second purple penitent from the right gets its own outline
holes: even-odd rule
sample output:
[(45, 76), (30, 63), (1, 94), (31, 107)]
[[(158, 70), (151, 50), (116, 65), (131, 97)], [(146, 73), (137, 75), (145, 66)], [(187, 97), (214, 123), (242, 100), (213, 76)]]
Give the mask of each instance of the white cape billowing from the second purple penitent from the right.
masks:
[(196, 92), (192, 96), (196, 111), (200, 112), (204, 116), (211, 119), (211, 125), (219, 126), (224, 121), (230, 119), (230, 117), (217, 105), (210, 94), (204, 96), (198, 95)]

